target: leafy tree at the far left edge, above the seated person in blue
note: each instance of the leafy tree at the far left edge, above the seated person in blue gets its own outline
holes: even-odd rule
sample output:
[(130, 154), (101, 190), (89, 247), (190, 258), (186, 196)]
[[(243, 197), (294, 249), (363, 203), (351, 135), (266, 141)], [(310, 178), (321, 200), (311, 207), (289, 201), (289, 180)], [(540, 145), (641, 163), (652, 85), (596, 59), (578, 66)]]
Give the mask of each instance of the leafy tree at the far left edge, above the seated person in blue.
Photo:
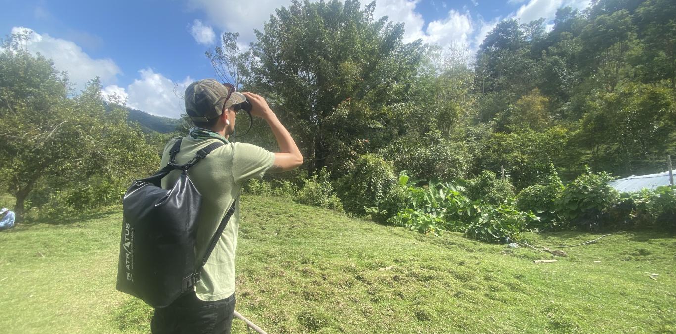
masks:
[[(82, 146), (74, 145), (80, 129), (66, 98), (68, 78), (53, 63), (5, 42), (0, 53), (0, 174), (16, 197), (18, 221), (24, 200), (37, 181), (77, 163)], [(70, 144), (66, 142), (70, 140)]]

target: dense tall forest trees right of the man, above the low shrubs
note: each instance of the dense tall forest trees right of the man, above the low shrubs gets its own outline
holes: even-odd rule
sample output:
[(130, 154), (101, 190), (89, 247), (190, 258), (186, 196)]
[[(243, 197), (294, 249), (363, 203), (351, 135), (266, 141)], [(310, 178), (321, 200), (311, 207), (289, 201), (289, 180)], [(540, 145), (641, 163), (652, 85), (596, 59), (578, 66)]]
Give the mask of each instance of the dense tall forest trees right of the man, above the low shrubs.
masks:
[[(339, 177), (367, 152), (425, 179), (504, 165), (518, 189), (546, 179), (550, 163), (564, 179), (585, 165), (617, 176), (666, 170), (676, 150), (672, 1), (566, 7), (549, 31), (544, 19), (505, 20), (476, 55), (404, 44), (404, 27), (372, 10), (294, 3), (247, 53), (235, 34), (208, 53), (235, 69), (224, 78), (274, 100), (310, 171)], [(254, 141), (269, 139), (257, 128)]]

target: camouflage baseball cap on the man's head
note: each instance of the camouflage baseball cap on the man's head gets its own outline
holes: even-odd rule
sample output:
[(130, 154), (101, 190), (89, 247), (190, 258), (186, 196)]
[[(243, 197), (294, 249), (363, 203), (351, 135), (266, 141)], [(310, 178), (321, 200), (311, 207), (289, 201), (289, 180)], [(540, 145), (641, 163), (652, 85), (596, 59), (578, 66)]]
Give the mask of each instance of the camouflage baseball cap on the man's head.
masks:
[(218, 117), (224, 108), (247, 101), (239, 92), (232, 92), (228, 99), (229, 92), (230, 89), (216, 79), (195, 81), (185, 88), (185, 112), (193, 121), (210, 121)]

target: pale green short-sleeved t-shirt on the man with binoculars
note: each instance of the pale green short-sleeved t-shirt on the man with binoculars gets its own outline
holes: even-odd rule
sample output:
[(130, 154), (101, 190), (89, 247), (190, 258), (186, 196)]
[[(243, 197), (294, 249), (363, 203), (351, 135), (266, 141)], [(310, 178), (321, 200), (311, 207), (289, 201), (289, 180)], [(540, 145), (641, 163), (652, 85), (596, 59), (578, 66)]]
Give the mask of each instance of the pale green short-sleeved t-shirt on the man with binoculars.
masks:
[[(176, 140), (170, 140), (164, 146), (162, 163), (167, 165), (169, 150)], [(195, 140), (183, 138), (176, 163), (187, 163), (195, 153), (217, 139)], [(197, 225), (197, 259), (206, 254), (206, 248), (228, 208), (237, 199), (235, 214), (220, 235), (216, 248), (201, 272), (201, 279), (195, 285), (197, 298), (216, 301), (228, 298), (235, 292), (235, 249), (239, 230), (239, 190), (247, 179), (263, 177), (274, 162), (274, 153), (256, 145), (240, 142), (228, 142), (213, 150), (188, 170), (188, 177), (202, 194)], [(180, 171), (172, 171), (162, 179), (162, 188), (170, 188)]]

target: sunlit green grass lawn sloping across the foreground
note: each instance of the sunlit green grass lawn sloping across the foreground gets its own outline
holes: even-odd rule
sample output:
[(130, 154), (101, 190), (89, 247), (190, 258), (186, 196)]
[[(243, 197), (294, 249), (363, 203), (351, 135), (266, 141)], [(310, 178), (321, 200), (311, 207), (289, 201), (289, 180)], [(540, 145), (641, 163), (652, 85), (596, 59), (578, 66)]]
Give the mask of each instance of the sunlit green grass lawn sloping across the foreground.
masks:
[[(269, 333), (676, 331), (674, 236), (610, 235), (535, 265), (554, 256), (281, 198), (247, 196), (242, 210), (237, 310)], [(151, 309), (114, 287), (121, 217), (118, 207), (1, 232), (0, 331), (149, 332)], [(556, 246), (598, 235), (529, 238)]]

